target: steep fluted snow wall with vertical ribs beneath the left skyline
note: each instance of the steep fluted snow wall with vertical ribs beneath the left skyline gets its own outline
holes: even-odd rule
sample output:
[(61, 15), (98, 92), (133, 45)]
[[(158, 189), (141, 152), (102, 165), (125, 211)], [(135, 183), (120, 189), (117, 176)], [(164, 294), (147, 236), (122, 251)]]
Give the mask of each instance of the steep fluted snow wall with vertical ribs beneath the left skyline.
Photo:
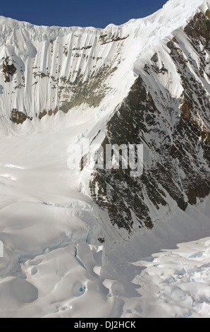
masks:
[(94, 28), (37, 27), (1, 18), (0, 30), (1, 115), (17, 124), (83, 103), (99, 106), (122, 78), (120, 71), (121, 78), (111, 79), (118, 66), (130, 65), (122, 66), (128, 37), (123, 29), (112, 34), (108, 28), (108, 43), (103, 30)]

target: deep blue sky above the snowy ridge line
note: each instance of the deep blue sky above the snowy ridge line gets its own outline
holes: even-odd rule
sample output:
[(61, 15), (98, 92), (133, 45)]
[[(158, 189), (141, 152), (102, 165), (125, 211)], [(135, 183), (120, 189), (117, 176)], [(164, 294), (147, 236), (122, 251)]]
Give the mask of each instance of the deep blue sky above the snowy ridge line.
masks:
[(166, 0), (9, 0), (1, 1), (0, 16), (36, 25), (94, 26), (121, 25), (130, 18), (142, 18), (159, 10)]

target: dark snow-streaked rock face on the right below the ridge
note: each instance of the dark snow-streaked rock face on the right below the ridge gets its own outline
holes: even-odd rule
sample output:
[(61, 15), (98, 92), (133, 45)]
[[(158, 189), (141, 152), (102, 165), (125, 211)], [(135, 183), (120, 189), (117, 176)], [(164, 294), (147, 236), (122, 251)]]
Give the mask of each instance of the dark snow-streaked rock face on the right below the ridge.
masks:
[[(128, 232), (134, 222), (140, 227), (152, 227), (159, 208), (171, 207), (171, 198), (185, 211), (188, 203), (195, 204), (197, 198), (204, 198), (210, 191), (210, 100), (197, 79), (209, 75), (205, 62), (210, 33), (208, 13), (194, 16), (185, 33), (200, 55), (200, 67), (190, 54), (186, 59), (175, 37), (168, 42), (183, 85), (180, 98), (170, 96), (166, 100), (163, 93), (152, 93), (143, 76), (139, 76), (106, 127), (104, 150), (108, 143), (144, 144), (144, 174), (132, 178), (129, 170), (95, 170), (89, 184), (94, 201), (108, 211), (111, 223)], [(156, 53), (151, 65), (144, 66), (151, 83), (154, 73), (166, 73), (159, 68), (158, 60)]]

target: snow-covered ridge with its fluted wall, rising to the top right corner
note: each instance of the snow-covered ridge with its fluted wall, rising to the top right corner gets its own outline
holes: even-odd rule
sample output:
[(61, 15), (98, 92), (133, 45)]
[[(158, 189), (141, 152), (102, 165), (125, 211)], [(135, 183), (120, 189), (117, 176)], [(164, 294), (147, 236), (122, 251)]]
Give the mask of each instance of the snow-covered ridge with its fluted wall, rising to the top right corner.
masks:
[(206, 1), (169, 1), (148, 18), (104, 30), (39, 27), (1, 17), (1, 115), (22, 123), (82, 103), (103, 107), (111, 94), (122, 99), (134, 82), (139, 54), (185, 24), (197, 6), (206, 11)]

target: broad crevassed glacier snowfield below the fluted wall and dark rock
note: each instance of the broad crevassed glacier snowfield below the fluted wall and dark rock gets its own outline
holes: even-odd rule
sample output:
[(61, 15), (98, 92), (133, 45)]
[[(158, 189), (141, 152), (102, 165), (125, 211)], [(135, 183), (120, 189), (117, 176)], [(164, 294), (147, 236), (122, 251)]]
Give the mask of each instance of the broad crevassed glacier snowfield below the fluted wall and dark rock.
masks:
[[(53, 130), (1, 138), (1, 316), (209, 316), (209, 197), (114, 240), (67, 167), (68, 144), (92, 121), (75, 109)], [(113, 238), (99, 244), (101, 231)]]

